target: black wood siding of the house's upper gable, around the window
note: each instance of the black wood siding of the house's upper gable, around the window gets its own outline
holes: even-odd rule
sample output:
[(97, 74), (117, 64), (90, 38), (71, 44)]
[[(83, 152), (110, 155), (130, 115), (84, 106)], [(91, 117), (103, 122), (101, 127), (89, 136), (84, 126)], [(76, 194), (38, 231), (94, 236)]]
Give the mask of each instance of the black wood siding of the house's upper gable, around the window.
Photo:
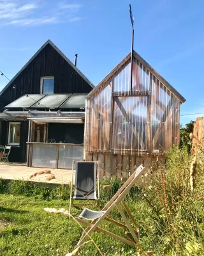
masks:
[(40, 77), (43, 76), (54, 76), (54, 93), (89, 93), (92, 90), (82, 76), (48, 44), (0, 96), (0, 111), (26, 93), (40, 93)]

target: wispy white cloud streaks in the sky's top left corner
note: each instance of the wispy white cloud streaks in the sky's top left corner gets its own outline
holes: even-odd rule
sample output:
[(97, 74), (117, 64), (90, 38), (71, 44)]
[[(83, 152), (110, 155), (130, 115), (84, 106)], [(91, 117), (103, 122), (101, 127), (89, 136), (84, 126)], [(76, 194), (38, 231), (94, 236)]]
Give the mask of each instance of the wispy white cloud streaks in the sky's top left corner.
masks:
[[(57, 22), (76, 22), (81, 17), (81, 4), (60, 2), (50, 4), (49, 0), (32, 3), (26, 0), (0, 0), (0, 26), (39, 26)], [(38, 3), (36, 2), (38, 1)]]

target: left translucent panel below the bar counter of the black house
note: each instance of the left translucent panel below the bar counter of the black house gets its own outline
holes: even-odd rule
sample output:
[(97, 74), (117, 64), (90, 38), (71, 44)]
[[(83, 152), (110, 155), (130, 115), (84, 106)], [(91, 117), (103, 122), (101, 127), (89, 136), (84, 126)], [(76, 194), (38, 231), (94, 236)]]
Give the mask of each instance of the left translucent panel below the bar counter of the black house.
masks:
[(33, 167), (55, 168), (57, 145), (33, 144)]

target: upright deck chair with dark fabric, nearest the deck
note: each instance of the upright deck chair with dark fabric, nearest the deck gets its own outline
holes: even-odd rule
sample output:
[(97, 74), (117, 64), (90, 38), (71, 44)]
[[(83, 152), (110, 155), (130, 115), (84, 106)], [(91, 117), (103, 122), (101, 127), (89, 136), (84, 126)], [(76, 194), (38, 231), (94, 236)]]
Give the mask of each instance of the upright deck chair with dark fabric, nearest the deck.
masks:
[[(75, 165), (75, 188), (72, 196), (73, 175)], [(96, 193), (96, 179), (98, 182), (98, 195)], [(98, 179), (98, 161), (75, 162), (72, 164), (72, 177), (70, 188), (69, 214), (71, 214), (71, 205), (90, 205), (90, 203), (74, 204), (73, 200), (96, 200), (95, 205), (99, 205), (99, 179)]]

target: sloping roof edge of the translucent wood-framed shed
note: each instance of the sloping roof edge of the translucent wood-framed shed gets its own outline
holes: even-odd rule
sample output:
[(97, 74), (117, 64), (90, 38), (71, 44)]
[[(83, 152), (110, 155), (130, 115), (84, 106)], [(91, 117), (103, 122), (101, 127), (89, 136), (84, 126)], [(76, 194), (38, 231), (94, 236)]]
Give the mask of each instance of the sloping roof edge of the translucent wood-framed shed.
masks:
[[(166, 86), (166, 88), (168, 88), (168, 90), (170, 90), (170, 92), (173, 93), (173, 95), (175, 95), (175, 97), (177, 97), (180, 100), (180, 102), (184, 103), (186, 101), (186, 99), (184, 99), (184, 97), (182, 95), (180, 95), (180, 93), (177, 92), (177, 90), (175, 90), (175, 88), (173, 88), (173, 86), (170, 83), (168, 83), (161, 75), (159, 75), (159, 73), (156, 70), (154, 70), (154, 68), (152, 68), (149, 65), (149, 63), (147, 63), (145, 60), (143, 60), (143, 58), (137, 52), (134, 51), (133, 55), (135, 56), (135, 58), (138, 61), (140, 61), (140, 63), (142, 63), (142, 65), (145, 68), (147, 68), (147, 70), (149, 70), (159, 81), (161, 81), (161, 83), (163, 83), (164, 86)], [(115, 68), (113, 68), (113, 70), (87, 95), (86, 99), (89, 99), (130, 58), (131, 58), (131, 52)]]

